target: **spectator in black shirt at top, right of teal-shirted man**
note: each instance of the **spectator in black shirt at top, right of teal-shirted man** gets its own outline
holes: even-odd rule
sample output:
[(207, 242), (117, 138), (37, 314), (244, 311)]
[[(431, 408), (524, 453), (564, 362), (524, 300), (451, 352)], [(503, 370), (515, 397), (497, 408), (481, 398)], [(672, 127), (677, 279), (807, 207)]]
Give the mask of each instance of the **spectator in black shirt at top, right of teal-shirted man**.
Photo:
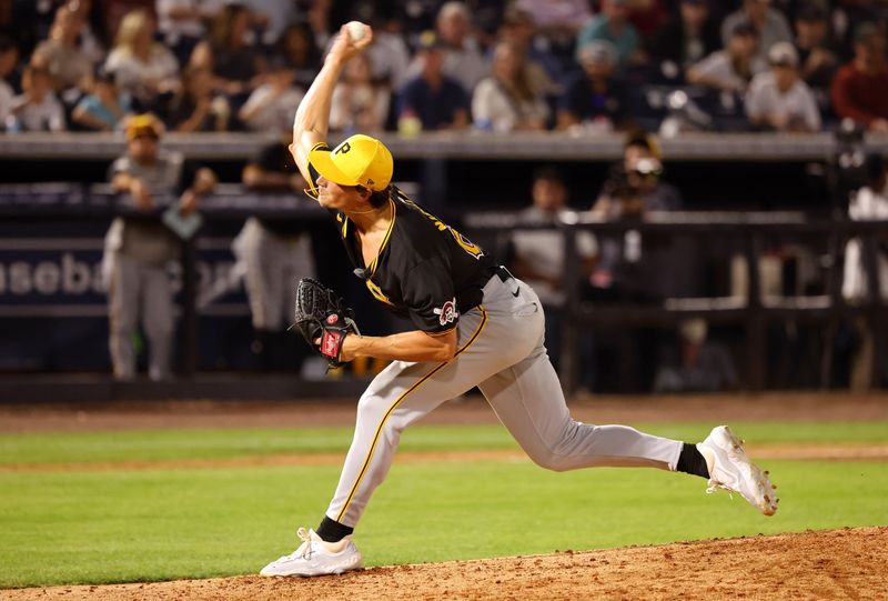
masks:
[(712, 16), (709, 0), (682, 0), (677, 17), (657, 29), (648, 50), (663, 73), (675, 79), (720, 48), (718, 22)]

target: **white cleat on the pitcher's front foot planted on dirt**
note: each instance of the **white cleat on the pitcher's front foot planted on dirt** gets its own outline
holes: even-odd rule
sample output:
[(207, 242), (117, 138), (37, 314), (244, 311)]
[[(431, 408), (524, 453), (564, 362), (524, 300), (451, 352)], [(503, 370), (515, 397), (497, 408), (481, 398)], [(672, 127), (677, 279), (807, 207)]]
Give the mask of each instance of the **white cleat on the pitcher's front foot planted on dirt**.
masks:
[(314, 530), (304, 528), (300, 528), (296, 534), (302, 539), (299, 549), (262, 568), (260, 575), (309, 577), (361, 569), (361, 551), (354, 545), (351, 534), (339, 542), (326, 542)]

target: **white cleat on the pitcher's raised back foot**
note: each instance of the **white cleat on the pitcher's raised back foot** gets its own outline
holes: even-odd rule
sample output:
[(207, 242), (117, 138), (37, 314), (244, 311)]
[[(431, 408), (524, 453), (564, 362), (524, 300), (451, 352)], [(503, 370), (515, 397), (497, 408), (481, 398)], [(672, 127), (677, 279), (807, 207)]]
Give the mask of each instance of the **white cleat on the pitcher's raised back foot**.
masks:
[(712, 459), (706, 492), (713, 493), (718, 489), (736, 492), (765, 515), (774, 515), (779, 501), (774, 491), (776, 487), (770, 483), (768, 472), (749, 461), (743, 450), (743, 441), (730, 428), (713, 428), (706, 440), (697, 444), (697, 449), (707, 462)]

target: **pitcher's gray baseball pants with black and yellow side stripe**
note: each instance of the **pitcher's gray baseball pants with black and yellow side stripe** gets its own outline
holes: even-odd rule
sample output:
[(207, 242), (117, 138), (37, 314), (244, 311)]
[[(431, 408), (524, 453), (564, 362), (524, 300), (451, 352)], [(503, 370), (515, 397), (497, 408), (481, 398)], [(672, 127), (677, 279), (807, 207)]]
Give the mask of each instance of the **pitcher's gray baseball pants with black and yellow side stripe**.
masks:
[(354, 527), (385, 479), (401, 432), (477, 385), (527, 455), (543, 468), (675, 470), (682, 442), (625, 425), (571, 419), (543, 345), (539, 299), (524, 282), (494, 276), (482, 304), (460, 317), (456, 357), (446, 363), (394, 361), (357, 403), (354, 439), (326, 515)]

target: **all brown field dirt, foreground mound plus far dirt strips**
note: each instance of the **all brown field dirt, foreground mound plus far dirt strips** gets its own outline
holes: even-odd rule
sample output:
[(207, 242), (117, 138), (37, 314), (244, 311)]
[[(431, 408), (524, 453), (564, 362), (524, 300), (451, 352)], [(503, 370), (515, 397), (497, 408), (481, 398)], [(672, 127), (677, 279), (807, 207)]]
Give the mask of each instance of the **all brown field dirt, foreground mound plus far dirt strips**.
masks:
[[(586, 421), (731, 420), (886, 420), (885, 395), (769, 394), (690, 399), (577, 399), (576, 418)], [(309, 427), (351, 423), (353, 403), (266, 404), (185, 403), (0, 409), (0, 431), (91, 431), (201, 427)], [(450, 403), (426, 423), (495, 421), (478, 399)], [(486, 451), (500, 457), (512, 451)], [(838, 445), (763, 445), (757, 457), (793, 459), (888, 460), (888, 441)], [(460, 453), (457, 453), (460, 454)], [(310, 461), (335, 462), (339, 455)], [(428, 455), (424, 455), (428, 459)], [(397, 461), (411, 461), (404, 453)], [(447, 460), (441, 453), (436, 460)], [(454, 457), (454, 460), (465, 460)], [(280, 462), (305, 459), (268, 457), (208, 461)], [(199, 462), (200, 463), (200, 462)], [(128, 469), (160, 467), (133, 463)], [(115, 464), (120, 469), (121, 464)], [(165, 468), (175, 468), (170, 464)], [(102, 464), (9, 465), (9, 470), (109, 469)], [(886, 513), (888, 520), (888, 512)], [(547, 555), (498, 558), (372, 568), (342, 577), (211, 580), (112, 585), (68, 585), (0, 591), (1, 600), (122, 599), (278, 600), (278, 599), (886, 599), (888, 525), (807, 531), (659, 547), (562, 550)]]

